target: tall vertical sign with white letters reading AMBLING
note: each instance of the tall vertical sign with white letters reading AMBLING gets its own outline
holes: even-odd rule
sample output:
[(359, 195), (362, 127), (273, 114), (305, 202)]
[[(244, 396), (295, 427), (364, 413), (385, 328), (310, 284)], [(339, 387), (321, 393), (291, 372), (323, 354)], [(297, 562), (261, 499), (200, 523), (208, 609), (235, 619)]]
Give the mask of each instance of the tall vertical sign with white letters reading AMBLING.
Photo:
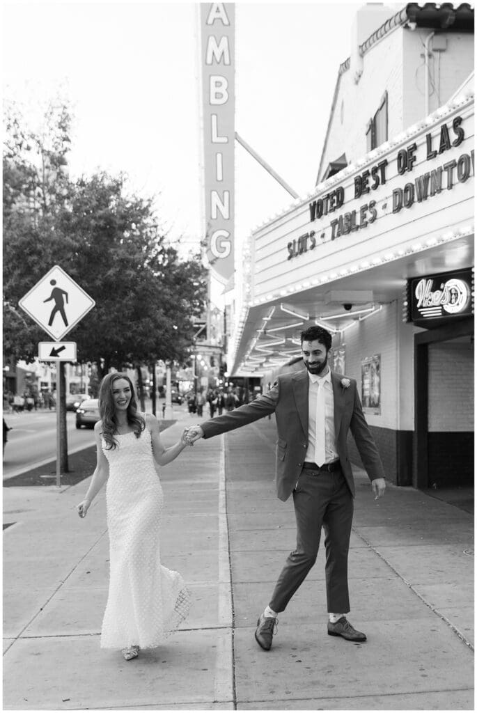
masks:
[(234, 272), (235, 6), (200, 4), (207, 260), (222, 282)]

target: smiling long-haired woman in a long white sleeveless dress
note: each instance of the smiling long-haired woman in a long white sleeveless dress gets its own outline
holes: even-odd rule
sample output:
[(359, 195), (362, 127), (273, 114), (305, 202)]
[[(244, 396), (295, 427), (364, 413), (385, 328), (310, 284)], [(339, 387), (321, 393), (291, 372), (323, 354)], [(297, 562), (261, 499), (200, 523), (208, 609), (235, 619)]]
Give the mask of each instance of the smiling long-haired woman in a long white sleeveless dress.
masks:
[(107, 483), (110, 580), (101, 648), (120, 649), (130, 660), (140, 648), (158, 646), (188, 615), (183, 578), (160, 563), (163, 491), (154, 465), (154, 460), (160, 466), (173, 461), (187, 442), (184, 431), (174, 446), (164, 448), (155, 416), (138, 413), (126, 374), (107, 374), (101, 381), (99, 411), (96, 469), (77, 509), (86, 517)]

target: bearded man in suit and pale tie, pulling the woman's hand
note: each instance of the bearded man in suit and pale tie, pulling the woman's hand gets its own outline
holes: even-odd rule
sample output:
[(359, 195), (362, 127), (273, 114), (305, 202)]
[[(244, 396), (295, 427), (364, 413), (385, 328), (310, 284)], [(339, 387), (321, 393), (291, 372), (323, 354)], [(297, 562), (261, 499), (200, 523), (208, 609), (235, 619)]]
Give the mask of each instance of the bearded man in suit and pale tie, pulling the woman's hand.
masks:
[(322, 327), (301, 334), (306, 370), (278, 376), (272, 389), (250, 404), (192, 426), (188, 441), (237, 429), (275, 412), (277, 421), (277, 494), (293, 495), (297, 547), (279, 575), (272, 598), (257, 621), (255, 639), (270, 650), (277, 615), (287, 604), (317, 558), (322, 527), (327, 561), (328, 634), (365, 641), (345, 616), (349, 612), (348, 550), (353, 519), (354, 481), (347, 451), (351, 430), (376, 498), (386, 483), (381, 458), (364, 419), (354, 379), (328, 366), (332, 336)]

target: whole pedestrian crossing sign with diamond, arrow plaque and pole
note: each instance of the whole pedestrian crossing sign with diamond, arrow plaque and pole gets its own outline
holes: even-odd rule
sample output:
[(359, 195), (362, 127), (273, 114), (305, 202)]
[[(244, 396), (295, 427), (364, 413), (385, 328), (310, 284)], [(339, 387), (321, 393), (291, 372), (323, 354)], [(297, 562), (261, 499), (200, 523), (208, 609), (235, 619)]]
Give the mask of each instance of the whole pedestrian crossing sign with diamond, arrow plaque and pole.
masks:
[[(76, 361), (76, 343), (61, 342), (88, 314), (94, 299), (55, 265), (19, 300), (19, 307), (56, 341), (39, 343), (40, 361), (56, 361), (56, 485), (61, 485), (61, 394), (62, 361)], [(66, 440), (66, 434), (65, 434)]]

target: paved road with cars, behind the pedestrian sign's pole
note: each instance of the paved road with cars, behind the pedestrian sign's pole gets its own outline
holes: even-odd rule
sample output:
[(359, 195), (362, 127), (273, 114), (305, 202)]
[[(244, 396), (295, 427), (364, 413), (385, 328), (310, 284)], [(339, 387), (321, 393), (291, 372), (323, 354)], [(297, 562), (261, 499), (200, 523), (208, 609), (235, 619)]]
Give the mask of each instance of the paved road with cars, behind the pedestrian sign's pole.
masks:
[[(86, 448), (93, 443), (91, 429), (76, 429), (76, 414), (66, 413), (68, 452)], [(26, 411), (4, 414), (12, 429), (4, 453), (4, 480), (16, 475), (26, 466), (35, 466), (56, 458), (56, 411)]]

